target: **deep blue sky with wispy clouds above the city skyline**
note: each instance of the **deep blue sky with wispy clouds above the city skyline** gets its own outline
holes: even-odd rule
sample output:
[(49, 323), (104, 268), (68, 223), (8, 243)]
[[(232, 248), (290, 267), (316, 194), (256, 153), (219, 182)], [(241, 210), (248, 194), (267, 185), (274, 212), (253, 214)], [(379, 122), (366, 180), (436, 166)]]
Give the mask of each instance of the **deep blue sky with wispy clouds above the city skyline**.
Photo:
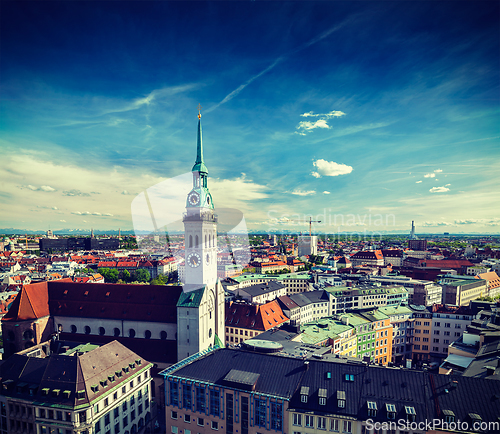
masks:
[(1, 2), (0, 228), (184, 206), (201, 104), (249, 230), (498, 234), (499, 5)]

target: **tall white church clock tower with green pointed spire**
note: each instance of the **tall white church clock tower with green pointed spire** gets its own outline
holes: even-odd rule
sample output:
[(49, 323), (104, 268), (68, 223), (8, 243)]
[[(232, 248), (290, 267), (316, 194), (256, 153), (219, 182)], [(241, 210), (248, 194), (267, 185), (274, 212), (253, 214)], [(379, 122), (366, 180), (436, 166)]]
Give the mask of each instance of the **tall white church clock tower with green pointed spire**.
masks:
[[(203, 161), (201, 114), (193, 188), (184, 214), (185, 272), (177, 303), (177, 359), (224, 341), (224, 290), (217, 279), (217, 216)], [(220, 337), (220, 339), (219, 339)]]

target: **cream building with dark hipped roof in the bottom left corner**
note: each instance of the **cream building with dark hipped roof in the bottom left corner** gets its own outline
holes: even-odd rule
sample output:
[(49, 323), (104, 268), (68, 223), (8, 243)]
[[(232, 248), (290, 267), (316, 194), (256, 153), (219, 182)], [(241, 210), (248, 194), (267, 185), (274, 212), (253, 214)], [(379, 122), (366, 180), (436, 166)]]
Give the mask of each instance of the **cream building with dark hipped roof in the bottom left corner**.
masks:
[(2, 429), (143, 433), (151, 420), (152, 366), (117, 341), (51, 341), (14, 354), (1, 366)]

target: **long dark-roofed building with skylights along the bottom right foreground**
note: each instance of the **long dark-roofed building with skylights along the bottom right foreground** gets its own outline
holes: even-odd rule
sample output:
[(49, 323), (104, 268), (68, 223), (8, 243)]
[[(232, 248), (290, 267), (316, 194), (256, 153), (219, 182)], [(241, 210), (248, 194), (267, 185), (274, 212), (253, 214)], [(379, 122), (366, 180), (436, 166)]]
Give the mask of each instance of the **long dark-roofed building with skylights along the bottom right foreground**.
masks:
[(268, 350), (214, 349), (163, 371), (167, 433), (440, 434), (450, 431), (425, 422), (459, 420), (455, 433), (500, 430), (498, 381)]

